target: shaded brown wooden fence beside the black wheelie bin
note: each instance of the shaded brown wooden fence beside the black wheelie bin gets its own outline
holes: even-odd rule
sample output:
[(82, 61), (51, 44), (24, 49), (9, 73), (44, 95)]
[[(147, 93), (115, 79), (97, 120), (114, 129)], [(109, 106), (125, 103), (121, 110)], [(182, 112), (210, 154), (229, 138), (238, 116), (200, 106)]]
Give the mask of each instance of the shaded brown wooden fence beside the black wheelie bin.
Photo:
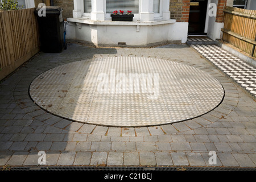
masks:
[(0, 11), (0, 80), (39, 51), (34, 10)]

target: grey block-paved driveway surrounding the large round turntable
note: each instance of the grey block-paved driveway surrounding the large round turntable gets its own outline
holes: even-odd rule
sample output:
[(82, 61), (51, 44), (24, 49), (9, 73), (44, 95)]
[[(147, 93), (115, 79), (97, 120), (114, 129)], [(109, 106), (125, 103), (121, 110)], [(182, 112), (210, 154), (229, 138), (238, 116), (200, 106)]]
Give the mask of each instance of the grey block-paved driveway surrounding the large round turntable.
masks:
[[(151, 127), (106, 127), (72, 122), (40, 109), (28, 94), (41, 73), (96, 57), (152, 57), (190, 65), (221, 82), (225, 97), (207, 114)], [(256, 102), (195, 49), (89, 48), (69, 44), (62, 53), (42, 53), (0, 84), (0, 166), (227, 166), (256, 167)], [(209, 151), (217, 163), (209, 164)]]

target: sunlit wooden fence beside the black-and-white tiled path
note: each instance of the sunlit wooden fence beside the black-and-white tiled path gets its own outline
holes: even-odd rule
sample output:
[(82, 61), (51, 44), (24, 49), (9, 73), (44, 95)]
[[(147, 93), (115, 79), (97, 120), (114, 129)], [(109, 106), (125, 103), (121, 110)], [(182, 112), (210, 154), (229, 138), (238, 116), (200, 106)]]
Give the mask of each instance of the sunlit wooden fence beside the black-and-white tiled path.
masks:
[(256, 11), (226, 7), (224, 14), (222, 40), (256, 57)]

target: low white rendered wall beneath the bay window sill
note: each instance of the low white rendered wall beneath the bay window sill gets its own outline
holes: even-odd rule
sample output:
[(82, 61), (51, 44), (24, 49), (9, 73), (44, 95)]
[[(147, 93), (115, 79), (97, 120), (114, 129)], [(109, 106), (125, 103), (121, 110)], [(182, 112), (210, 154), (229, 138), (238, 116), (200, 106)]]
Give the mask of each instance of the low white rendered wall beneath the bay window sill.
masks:
[(67, 39), (92, 43), (95, 46), (149, 46), (180, 40), (187, 41), (188, 23), (168, 22), (166, 24), (140, 25), (136, 24), (86, 24), (69, 22)]

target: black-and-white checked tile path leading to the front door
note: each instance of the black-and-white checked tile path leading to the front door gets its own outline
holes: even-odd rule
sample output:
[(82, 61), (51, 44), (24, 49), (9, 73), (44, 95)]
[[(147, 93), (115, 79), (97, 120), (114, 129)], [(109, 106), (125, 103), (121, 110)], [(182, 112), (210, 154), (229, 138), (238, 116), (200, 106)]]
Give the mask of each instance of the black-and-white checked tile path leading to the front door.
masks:
[(220, 71), (256, 97), (256, 68), (216, 45), (191, 45)]

